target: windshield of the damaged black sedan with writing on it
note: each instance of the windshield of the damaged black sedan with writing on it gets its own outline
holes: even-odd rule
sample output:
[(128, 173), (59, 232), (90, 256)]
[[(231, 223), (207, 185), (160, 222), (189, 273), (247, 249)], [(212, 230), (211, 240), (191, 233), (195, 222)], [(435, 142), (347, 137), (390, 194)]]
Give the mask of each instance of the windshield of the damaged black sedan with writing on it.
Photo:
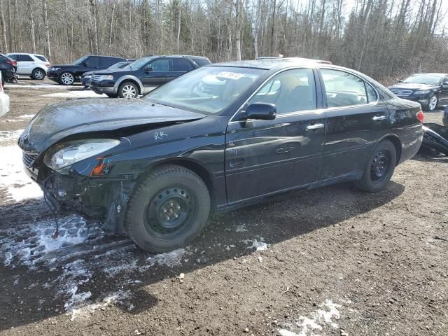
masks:
[(264, 72), (262, 69), (204, 66), (148, 93), (145, 99), (206, 114), (221, 113)]

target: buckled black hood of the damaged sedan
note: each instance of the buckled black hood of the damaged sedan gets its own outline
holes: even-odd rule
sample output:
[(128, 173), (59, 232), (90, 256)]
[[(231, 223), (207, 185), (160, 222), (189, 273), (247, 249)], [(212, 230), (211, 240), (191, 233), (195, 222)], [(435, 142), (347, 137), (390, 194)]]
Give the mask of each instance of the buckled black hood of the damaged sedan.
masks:
[(108, 132), (138, 125), (176, 123), (206, 117), (200, 113), (145, 102), (140, 99), (71, 100), (45, 107), (20, 136), (25, 151), (42, 153), (74, 134)]

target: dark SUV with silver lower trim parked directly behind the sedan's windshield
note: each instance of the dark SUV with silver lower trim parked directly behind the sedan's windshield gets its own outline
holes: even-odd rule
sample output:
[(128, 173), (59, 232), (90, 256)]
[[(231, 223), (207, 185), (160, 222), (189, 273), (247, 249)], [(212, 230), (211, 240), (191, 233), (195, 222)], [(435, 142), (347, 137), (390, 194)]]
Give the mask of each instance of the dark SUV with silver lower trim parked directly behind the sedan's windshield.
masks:
[(209, 59), (200, 56), (144, 57), (123, 69), (95, 71), (90, 88), (109, 97), (134, 98), (206, 64)]

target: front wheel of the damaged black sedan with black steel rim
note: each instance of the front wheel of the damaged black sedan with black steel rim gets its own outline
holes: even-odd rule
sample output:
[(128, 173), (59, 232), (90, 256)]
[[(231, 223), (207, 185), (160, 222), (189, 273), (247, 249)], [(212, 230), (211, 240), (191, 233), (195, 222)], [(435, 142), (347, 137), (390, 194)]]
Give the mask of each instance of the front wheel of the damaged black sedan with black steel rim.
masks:
[(137, 246), (167, 252), (185, 246), (207, 223), (210, 194), (190, 169), (166, 165), (148, 174), (132, 193), (125, 228)]

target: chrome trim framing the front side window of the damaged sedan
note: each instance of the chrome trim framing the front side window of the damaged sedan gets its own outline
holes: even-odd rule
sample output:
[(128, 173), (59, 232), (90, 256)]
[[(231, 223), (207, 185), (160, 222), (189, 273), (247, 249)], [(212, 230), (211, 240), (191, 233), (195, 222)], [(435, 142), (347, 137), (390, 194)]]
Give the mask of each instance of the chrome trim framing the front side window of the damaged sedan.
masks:
[[(281, 113), (276, 115), (276, 118), (282, 118), (283, 116), (287, 117), (287, 116), (299, 116), (302, 114), (309, 114), (309, 113), (321, 113), (321, 111), (325, 111), (325, 108), (320, 107), (319, 106), (319, 98), (318, 95), (322, 93), (322, 85), (321, 85), (321, 78), (318, 78), (318, 76), (316, 75), (320, 75), (320, 73), (316, 73), (316, 67), (315, 66), (306, 66), (306, 65), (302, 65), (302, 66), (289, 66), (287, 68), (283, 68), (280, 69), (278, 71), (275, 71), (274, 73), (272, 73), (269, 77), (267, 77), (263, 83), (261, 83), (260, 85), (258, 85), (257, 90), (255, 90), (254, 92), (252, 92), (252, 94), (248, 97), (248, 99), (246, 99), (246, 101), (241, 104), (241, 106), (239, 106), (239, 109), (237, 109), (237, 111), (232, 115), (232, 117), (230, 118), (229, 121), (229, 125), (230, 124), (239, 124), (239, 123), (246, 123), (246, 120), (234, 120), (235, 116), (237, 116), (241, 111), (244, 111), (243, 108), (244, 106), (246, 106), (246, 104), (248, 103), (249, 100), (252, 99), (253, 96), (255, 96), (255, 94), (258, 93), (258, 91), (261, 90), (261, 88), (269, 81), (271, 80), (274, 76), (278, 75), (279, 73), (282, 73), (284, 71), (289, 71), (289, 70), (296, 70), (296, 69), (310, 69), (313, 72), (313, 76), (314, 76), (314, 85), (316, 87), (316, 109), (313, 110), (303, 110), (303, 111), (294, 111), (294, 112), (288, 112), (288, 113)], [(274, 119), (275, 120), (275, 119)]]

